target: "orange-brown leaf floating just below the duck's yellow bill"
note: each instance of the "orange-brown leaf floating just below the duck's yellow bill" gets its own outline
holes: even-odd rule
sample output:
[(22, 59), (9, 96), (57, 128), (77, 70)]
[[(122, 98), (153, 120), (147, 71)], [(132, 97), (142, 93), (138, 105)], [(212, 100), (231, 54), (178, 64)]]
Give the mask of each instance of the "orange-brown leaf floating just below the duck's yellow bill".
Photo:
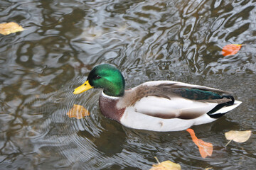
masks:
[(81, 119), (85, 118), (85, 116), (90, 115), (90, 113), (83, 106), (74, 104), (73, 108), (70, 108), (67, 115), (69, 118)]

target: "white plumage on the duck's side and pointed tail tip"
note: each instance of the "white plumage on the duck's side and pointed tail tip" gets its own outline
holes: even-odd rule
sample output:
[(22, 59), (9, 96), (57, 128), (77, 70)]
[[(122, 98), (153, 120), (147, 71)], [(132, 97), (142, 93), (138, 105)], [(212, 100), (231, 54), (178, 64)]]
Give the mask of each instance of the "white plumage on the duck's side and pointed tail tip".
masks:
[[(226, 113), (240, 105), (240, 101), (235, 101), (233, 106), (221, 108), (216, 113)], [(159, 132), (186, 130), (192, 125), (201, 125), (216, 120), (210, 118), (208, 111), (217, 106), (217, 103), (201, 103), (184, 98), (159, 98), (149, 96), (137, 101), (133, 107), (128, 107), (124, 112), (120, 122), (129, 128), (141, 130), (154, 130)], [(180, 119), (180, 118), (157, 118), (154, 114), (162, 115), (182, 115), (182, 113), (198, 113), (198, 118)], [(146, 115), (148, 114), (148, 115)], [(150, 115), (149, 115), (150, 114)], [(151, 116), (152, 115), (152, 116)]]

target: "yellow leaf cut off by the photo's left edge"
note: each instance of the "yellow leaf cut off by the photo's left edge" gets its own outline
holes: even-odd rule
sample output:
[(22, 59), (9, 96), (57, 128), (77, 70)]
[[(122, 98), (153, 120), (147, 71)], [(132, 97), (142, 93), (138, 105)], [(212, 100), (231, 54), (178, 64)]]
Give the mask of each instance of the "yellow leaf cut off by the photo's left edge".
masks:
[(0, 23), (0, 34), (2, 35), (9, 35), (23, 30), (21, 26), (18, 26), (18, 23)]

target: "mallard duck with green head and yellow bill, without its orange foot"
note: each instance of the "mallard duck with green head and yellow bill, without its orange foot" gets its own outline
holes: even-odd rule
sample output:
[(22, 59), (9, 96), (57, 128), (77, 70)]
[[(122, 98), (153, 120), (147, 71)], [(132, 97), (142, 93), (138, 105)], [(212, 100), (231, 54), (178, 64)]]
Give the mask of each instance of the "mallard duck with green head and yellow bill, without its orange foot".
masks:
[(103, 89), (100, 111), (122, 125), (159, 132), (186, 130), (210, 123), (240, 105), (230, 93), (178, 81), (147, 81), (129, 90), (119, 70), (110, 64), (92, 69), (87, 81), (73, 91)]

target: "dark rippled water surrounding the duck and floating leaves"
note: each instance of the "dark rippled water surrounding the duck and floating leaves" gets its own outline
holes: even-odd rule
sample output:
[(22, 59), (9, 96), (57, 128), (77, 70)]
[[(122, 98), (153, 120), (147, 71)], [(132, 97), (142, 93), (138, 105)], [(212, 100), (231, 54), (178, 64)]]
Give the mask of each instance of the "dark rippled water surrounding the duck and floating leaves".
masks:
[[(0, 169), (255, 169), (256, 1), (0, 0), (0, 23), (25, 30), (0, 35)], [(236, 55), (223, 46), (243, 44)], [(186, 131), (125, 128), (105, 118), (100, 90), (74, 95), (97, 64), (110, 63), (127, 89), (149, 80), (211, 86), (243, 103), (193, 127), (213, 144), (201, 158)], [(90, 117), (66, 113), (79, 104)], [(229, 130), (252, 130), (244, 143)]]

